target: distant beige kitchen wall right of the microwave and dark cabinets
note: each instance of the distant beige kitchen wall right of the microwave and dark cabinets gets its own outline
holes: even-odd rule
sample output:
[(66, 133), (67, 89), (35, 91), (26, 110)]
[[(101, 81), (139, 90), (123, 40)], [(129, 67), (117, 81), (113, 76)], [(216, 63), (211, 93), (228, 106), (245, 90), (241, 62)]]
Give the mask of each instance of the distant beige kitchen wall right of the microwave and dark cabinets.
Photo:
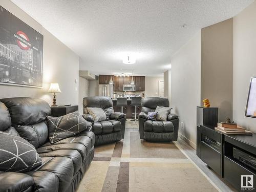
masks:
[(158, 97), (159, 81), (163, 77), (145, 77), (145, 97)]

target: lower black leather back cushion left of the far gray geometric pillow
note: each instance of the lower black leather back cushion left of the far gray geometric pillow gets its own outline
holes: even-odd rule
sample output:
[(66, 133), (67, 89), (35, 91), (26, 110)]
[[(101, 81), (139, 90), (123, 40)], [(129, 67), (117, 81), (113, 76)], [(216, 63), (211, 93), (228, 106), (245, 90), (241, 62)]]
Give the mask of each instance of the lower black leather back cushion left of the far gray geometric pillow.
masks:
[(15, 127), (20, 137), (38, 148), (48, 141), (48, 127), (46, 121), (31, 125), (18, 125)]

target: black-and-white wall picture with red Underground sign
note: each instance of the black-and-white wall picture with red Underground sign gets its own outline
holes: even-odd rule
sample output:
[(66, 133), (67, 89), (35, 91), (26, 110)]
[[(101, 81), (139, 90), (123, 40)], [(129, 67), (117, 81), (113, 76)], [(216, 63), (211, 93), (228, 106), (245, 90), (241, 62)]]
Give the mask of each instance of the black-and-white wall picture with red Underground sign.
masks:
[(0, 6), (0, 83), (42, 87), (43, 36)]

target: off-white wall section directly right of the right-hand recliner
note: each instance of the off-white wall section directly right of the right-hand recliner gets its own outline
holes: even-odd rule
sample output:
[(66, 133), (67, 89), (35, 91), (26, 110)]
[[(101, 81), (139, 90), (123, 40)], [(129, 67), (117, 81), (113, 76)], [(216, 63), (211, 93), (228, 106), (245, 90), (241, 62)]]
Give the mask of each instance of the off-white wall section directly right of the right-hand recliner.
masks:
[(201, 97), (201, 31), (172, 57), (171, 105), (179, 115), (179, 135), (196, 147), (197, 106)]

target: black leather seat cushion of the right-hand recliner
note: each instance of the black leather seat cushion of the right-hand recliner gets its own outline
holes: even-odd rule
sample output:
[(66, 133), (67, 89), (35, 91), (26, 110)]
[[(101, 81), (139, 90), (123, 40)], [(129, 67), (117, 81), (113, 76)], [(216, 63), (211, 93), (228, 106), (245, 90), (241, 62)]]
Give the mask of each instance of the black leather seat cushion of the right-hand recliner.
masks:
[(145, 132), (168, 133), (174, 131), (174, 125), (170, 121), (146, 120), (144, 123)]

